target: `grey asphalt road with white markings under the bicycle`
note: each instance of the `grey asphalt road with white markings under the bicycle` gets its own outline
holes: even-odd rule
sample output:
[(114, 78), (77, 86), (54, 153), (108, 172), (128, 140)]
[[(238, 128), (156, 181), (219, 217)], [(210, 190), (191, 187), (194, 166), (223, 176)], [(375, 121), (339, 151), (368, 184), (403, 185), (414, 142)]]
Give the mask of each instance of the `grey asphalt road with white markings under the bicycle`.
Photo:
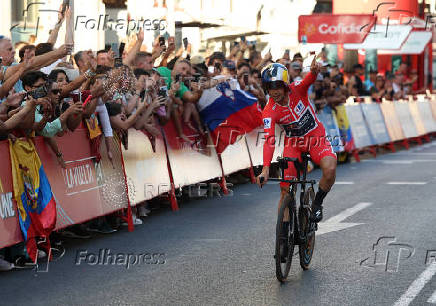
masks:
[[(69, 240), (47, 273), (1, 273), (0, 304), (431, 305), (435, 169), (436, 142), (339, 166), (312, 265), (302, 271), (294, 257), (283, 285), (273, 259), (278, 186), (245, 184), (154, 212), (132, 233)], [(120, 265), (92, 265), (100, 249), (163, 255), (129, 269), (123, 256)], [(80, 254), (88, 261), (78, 265)]]

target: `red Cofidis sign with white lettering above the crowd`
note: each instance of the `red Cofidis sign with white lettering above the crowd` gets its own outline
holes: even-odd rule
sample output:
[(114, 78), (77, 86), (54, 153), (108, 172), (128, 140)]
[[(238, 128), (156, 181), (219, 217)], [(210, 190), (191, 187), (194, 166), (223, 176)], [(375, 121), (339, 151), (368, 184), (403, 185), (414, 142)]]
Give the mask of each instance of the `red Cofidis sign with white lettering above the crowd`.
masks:
[(298, 40), (303, 43), (361, 43), (374, 25), (373, 15), (301, 15)]

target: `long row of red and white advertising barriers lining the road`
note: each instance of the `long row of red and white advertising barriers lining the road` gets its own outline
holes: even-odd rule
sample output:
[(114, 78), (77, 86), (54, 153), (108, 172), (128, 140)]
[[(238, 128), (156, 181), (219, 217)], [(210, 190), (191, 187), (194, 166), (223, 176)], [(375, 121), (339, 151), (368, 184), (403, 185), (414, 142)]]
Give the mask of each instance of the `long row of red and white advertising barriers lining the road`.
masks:
[[(411, 139), (421, 142), (421, 138), (436, 132), (436, 96), (382, 103), (355, 103), (349, 99), (335, 109), (324, 108), (319, 118), (335, 152), (356, 153)], [(80, 127), (57, 138), (66, 169), (59, 166), (44, 139), (36, 137), (34, 142), (56, 199), (56, 229), (125, 210), (129, 203), (134, 206), (163, 194), (170, 196), (172, 209), (176, 210), (176, 188), (220, 178), (225, 189), (225, 175), (262, 165), (265, 139), (261, 127), (240, 137), (221, 156), (207, 134), (202, 136), (184, 129), (192, 143), (179, 141), (174, 125), (169, 122), (155, 138), (155, 151), (146, 134), (130, 129), (128, 150), (115, 140), (111, 143), (112, 164), (104, 145), (100, 146), (98, 160), (92, 153), (87, 130)], [(284, 133), (276, 127), (273, 160), (283, 148)], [(22, 234), (13, 200), (8, 141), (0, 142), (0, 158), (0, 248), (3, 248), (21, 242)]]

